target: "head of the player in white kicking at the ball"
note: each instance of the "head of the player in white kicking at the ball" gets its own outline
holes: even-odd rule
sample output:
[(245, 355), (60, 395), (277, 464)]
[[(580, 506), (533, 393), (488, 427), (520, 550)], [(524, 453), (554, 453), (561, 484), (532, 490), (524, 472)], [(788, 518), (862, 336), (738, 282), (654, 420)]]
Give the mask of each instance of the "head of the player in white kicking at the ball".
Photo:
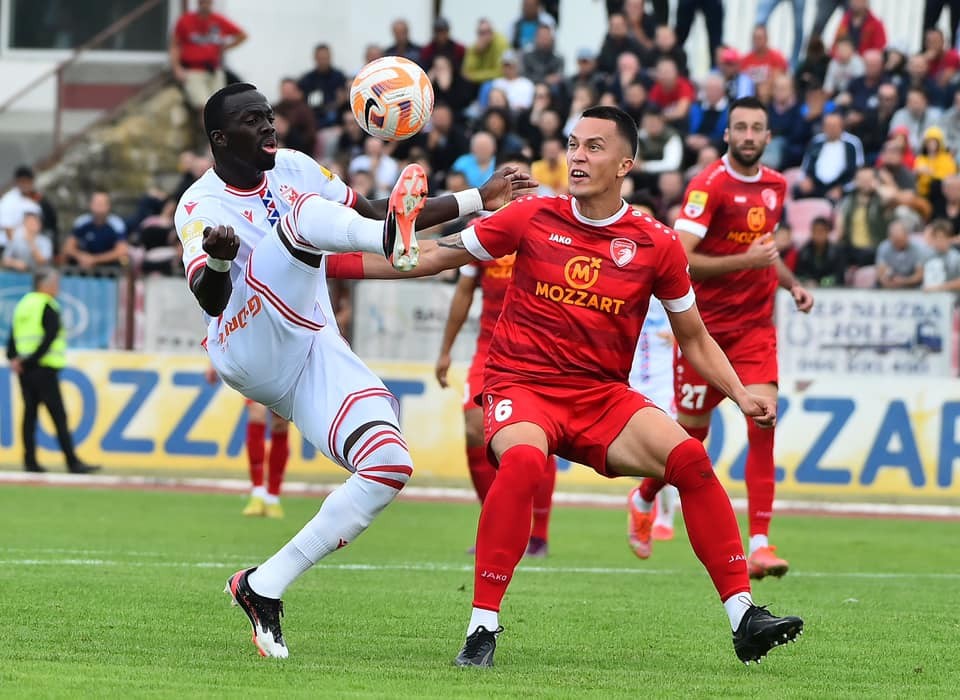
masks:
[(257, 170), (270, 170), (277, 161), (277, 131), (267, 98), (250, 90), (230, 95), (224, 103), (223, 147)]

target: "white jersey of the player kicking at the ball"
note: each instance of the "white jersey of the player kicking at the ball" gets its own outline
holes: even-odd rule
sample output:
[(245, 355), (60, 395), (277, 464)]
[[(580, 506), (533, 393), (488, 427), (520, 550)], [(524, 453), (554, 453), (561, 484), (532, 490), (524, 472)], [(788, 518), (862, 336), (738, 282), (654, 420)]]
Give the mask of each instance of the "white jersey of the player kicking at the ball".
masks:
[(210, 168), (183, 194), (174, 216), (188, 284), (207, 260), (202, 248), (204, 228), (232, 226), (240, 237), (240, 252), (230, 269), (236, 286), (253, 246), (309, 192), (348, 207), (357, 201), (343, 180), (309, 156), (287, 148), (277, 152), (274, 168), (249, 190), (231, 187)]

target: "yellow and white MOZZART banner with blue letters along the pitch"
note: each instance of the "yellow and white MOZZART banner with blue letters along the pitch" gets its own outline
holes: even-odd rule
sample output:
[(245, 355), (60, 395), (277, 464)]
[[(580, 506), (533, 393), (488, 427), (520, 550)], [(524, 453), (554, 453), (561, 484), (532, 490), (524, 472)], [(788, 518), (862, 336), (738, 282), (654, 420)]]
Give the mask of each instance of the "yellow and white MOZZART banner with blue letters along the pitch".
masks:
[[(70, 424), (84, 459), (108, 469), (205, 469), (245, 474), (241, 397), (208, 385), (202, 355), (74, 352), (63, 372)], [(465, 481), (460, 397), (464, 367), (443, 390), (432, 363), (374, 362), (400, 399), (402, 427), (421, 478)], [(41, 461), (60, 464), (52, 426), (41, 420)], [(910, 499), (960, 496), (960, 382), (856, 378), (783, 381), (777, 428), (778, 493)], [(0, 366), (0, 462), (18, 465), (20, 392)], [(344, 472), (294, 440), (293, 475)], [(718, 473), (742, 492), (745, 424), (725, 402), (708, 449)], [(414, 477), (417, 478), (416, 476)], [(561, 488), (606, 480), (562, 465)]]

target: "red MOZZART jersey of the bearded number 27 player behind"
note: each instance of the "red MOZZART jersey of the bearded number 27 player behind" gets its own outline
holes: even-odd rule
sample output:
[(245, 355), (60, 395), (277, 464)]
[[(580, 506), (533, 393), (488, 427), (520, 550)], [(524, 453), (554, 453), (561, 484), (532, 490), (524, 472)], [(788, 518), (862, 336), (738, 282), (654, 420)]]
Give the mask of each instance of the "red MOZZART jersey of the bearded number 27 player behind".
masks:
[[(746, 178), (733, 172), (724, 156), (690, 181), (674, 228), (701, 239), (698, 253), (744, 253), (777, 229), (786, 192), (786, 181), (775, 170), (760, 166), (756, 176)], [(773, 324), (777, 270), (772, 265), (696, 280), (693, 288), (711, 334)]]

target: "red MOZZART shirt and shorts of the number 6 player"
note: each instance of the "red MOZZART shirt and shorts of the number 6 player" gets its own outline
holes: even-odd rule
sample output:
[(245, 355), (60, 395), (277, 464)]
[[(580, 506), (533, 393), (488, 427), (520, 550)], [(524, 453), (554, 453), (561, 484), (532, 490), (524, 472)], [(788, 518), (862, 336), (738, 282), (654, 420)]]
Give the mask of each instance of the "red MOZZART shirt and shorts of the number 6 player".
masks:
[(676, 233), (627, 204), (591, 220), (561, 195), (515, 200), (462, 239), (479, 260), (517, 254), (487, 357), (488, 443), (532, 422), (549, 452), (606, 475), (607, 447), (654, 405), (627, 383), (650, 296), (674, 312), (694, 303)]

